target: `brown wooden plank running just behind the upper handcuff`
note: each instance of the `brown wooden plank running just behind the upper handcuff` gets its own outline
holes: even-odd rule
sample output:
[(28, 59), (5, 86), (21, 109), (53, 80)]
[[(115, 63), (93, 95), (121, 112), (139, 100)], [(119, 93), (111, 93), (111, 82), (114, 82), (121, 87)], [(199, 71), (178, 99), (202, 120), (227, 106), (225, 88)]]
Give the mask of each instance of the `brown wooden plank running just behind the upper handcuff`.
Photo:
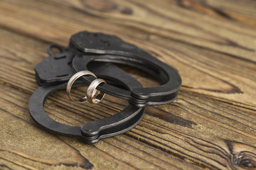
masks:
[[(58, 8), (60, 4), (27, 2), (27, 4), (18, 4), (14, 1), (12, 4), (5, 4), (3, 1), (1, 6), (4, 6), (4, 8), (1, 8), (0, 12), (8, 17), (1, 18), (0, 23), (2, 21), (8, 28), (22, 33), (25, 32), (46, 41), (57, 42), (60, 45), (67, 45), (69, 36), (79, 30), (104, 30), (106, 33), (114, 33), (124, 38), (124, 40), (139, 45), (155, 54), (160, 60), (180, 70), (181, 77), (183, 77), (183, 86), (188, 90), (255, 109), (256, 92), (250, 90), (255, 88), (255, 62), (250, 62), (250, 60), (255, 60), (255, 51), (251, 52), (251, 55), (245, 55), (246, 52), (244, 53), (242, 49), (238, 48), (238, 51), (242, 52), (241, 55), (238, 55), (239, 52), (234, 51), (237, 49), (236, 47), (226, 51), (226, 53), (217, 52), (214, 47), (202, 49), (202, 47), (195, 47), (196, 44), (190, 45), (184, 41), (179, 42), (179, 40), (177, 42), (177, 40), (172, 40), (169, 37), (162, 37), (163, 35), (156, 35), (155, 33), (150, 35), (152, 32), (144, 33), (144, 31), (132, 30), (126, 26), (118, 25), (117, 27), (113, 25), (114, 21), (110, 23), (102, 18), (85, 16), (84, 13), (70, 10), (70, 8), (65, 8), (66, 13), (62, 13), (62, 8)], [(11, 9), (15, 9), (16, 14), (10, 12)], [(60, 13), (62, 13), (61, 18)], [(26, 20), (17, 16), (23, 16), (23, 18), (26, 16)], [(76, 17), (72, 19), (70, 16)], [(51, 20), (48, 20), (48, 18), (51, 18)], [(93, 22), (90, 22), (91, 19)], [(230, 23), (230, 21), (227, 22), (230, 26), (235, 24)], [(220, 23), (215, 24), (220, 25)], [(68, 28), (65, 26), (68, 26)], [(235, 27), (235, 29), (238, 28)], [(244, 31), (245, 29), (246, 31)], [(127, 31), (124, 32), (123, 30)], [(228, 31), (232, 32), (231, 30)], [(245, 40), (244, 38), (247, 35), (243, 36), (242, 31), (243, 33), (252, 33), (252, 36), (250, 35), (251, 40)], [(214, 31), (214, 33), (219, 32), (218, 30)], [(242, 36), (242, 40), (240, 38), (236, 39), (238, 42), (248, 42), (251, 46), (256, 47), (253, 35), (255, 31), (252, 31), (251, 28), (240, 28), (240, 32), (235, 32), (234, 36), (236, 34)], [(223, 46), (225, 45), (221, 45), (221, 47)], [(233, 55), (233, 52), (236, 55)], [(248, 75), (245, 76), (245, 74)], [(247, 88), (248, 86), (250, 88)]]

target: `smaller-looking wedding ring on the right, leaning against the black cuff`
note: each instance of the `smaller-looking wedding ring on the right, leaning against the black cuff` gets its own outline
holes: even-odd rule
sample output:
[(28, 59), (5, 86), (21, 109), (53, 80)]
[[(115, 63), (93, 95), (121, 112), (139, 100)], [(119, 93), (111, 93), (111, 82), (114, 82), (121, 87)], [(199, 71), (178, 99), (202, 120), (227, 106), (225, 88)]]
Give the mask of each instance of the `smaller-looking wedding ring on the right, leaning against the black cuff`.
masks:
[(99, 103), (102, 98), (104, 98), (105, 93), (102, 91), (98, 91), (96, 88), (97, 86), (99, 86), (102, 83), (106, 83), (106, 81), (104, 79), (95, 79), (94, 81), (92, 81), (92, 83), (90, 84), (90, 86), (87, 89), (87, 100), (90, 103)]

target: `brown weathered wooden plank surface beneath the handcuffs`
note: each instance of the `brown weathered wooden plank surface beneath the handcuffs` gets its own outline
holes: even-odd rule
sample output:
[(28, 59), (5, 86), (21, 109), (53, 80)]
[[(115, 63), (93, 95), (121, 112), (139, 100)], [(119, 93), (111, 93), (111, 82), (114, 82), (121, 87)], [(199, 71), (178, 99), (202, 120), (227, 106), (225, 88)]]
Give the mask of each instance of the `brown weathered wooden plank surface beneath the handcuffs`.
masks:
[[(28, 113), (33, 68), (50, 43), (67, 47), (80, 30), (117, 35), (178, 69), (176, 101), (147, 107), (135, 128), (95, 145), (39, 128)], [(256, 1), (0, 1), (0, 59), (0, 169), (256, 169)], [(58, 91), (45, 109), (82, 125), (125, 103), (79, 105)]]

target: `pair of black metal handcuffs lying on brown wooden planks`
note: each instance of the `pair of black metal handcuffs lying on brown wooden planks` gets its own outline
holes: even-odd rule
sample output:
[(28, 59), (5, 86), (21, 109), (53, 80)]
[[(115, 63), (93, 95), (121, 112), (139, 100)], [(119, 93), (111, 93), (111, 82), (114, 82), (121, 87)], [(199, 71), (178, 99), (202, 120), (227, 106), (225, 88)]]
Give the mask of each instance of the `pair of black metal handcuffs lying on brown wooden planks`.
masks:
[[(53, 47), (60, 52), (53, 54)], [(50, 56), (35, 67), (36, 80), (41, 87), (31, 96), (29, 112), (33, 120), (46, 130), (56, 135), (78, 137), (87, 144), (130, 130), (142, 120), (146, 105), (171, 103), (181, 86), (176, 69), (114, 35), (82, 31), (71, 36), (68, 48), (50, 45), (48, 53)], [(158, 79), (161, 86), (143, 88), (137, 79), (112, 63), (141, 69)], [(64, 125), (50, 118), (43, 109), (44, 101), (53, 91), (65, 89), (70, 78), (74, 83), (80, 77), (74, 77), (74, 74), (81, 74), (81, 71), (85, 74), (90, 71), (106, 82), (92, 83), (97, 80), (94, 76), (81, 77), (82, 81), (75, 82), (74, 86), (94, 84), (92, 91), (87, 91), (92, 96), (95, 96), (95, 90), (100, 91), (96, 98), (90, 96), (87, 100), (96, 99), (97, 103), (106, 93), (129, 101), (129, 105), (115, 115), (85, 123), (82, 127)]]

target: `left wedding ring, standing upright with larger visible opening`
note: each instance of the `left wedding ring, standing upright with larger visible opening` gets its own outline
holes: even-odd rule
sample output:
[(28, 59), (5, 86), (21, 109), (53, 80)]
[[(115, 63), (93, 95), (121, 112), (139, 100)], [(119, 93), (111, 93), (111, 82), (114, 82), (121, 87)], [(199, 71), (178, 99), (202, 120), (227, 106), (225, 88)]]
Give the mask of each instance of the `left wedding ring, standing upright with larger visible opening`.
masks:
[[(95, 76), (95, 74), (93, 74), (90, 71), (81, 71), (81, 72), (77, 72), (76, 74), (73, 75), (73, 77), (71, 77), (68, 81), (67, 87), (66, 87), (66, 91), (68, 93), (68, 97), (70, 98), (71, 101), (74, 101), (75, 103), (85, 103), (87, 101), (87, 96), (80, 98), (80, 99), (73, 99), (71, 96), (71, 88), (72, 85), (74, 84), (74, 82), (85, 75), (91, 75), (93, 77), (95, 77), (97, 79), (97, 77)], [(93, 81), (92, 81), (93, 82)]]

